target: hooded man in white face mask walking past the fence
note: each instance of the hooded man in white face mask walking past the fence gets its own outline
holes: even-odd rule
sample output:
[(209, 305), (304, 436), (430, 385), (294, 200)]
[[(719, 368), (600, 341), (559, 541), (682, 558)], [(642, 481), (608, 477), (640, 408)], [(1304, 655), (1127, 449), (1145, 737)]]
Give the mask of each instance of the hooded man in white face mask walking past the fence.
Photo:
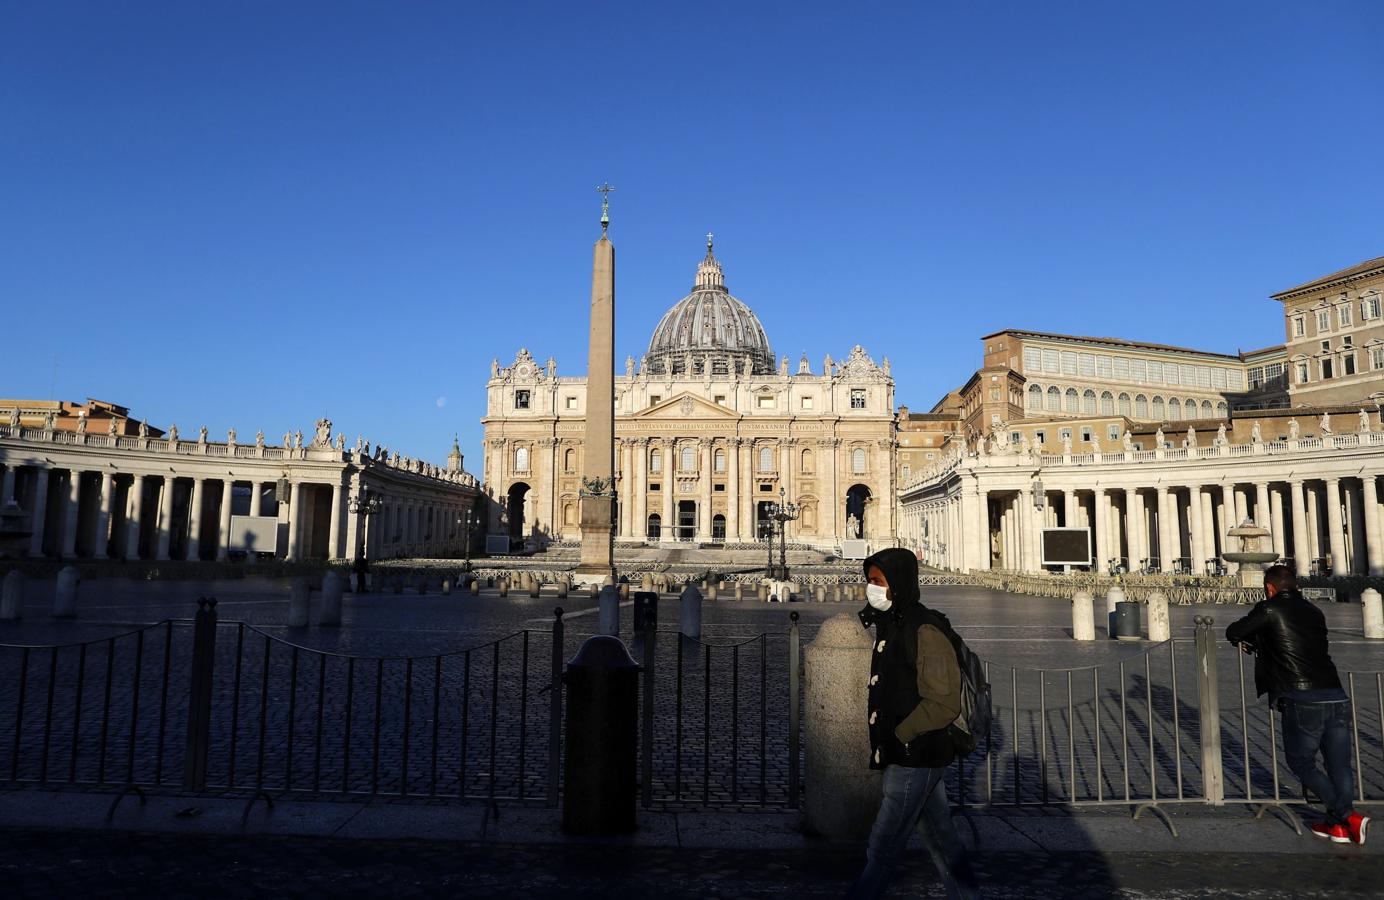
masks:
[(883, 770), (884, 799), (871, 829), (865, 870), (851, 900), (879, 897), (916, 828), (948, 896), (980, 896), (956, 835), (944, 775), (954, 757), (948, 726), (960, 712), (960, 665), (951, 623), (919, 600), (918, 557), (901, 547), (865, 559), (865, 627), (871, 659), (871, 768)]

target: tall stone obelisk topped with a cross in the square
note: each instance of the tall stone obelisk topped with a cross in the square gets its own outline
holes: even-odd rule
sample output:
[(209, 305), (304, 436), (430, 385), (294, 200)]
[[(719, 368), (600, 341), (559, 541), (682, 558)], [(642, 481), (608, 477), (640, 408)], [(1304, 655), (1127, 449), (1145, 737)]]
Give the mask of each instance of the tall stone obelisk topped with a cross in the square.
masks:
[(614, 577), (614, 245), (609, 184), (597, 188), (601, 240), (591, 263), (591, 348), (587, 354), (587, 433), (581, 449), (581, 562), (573, 580)]

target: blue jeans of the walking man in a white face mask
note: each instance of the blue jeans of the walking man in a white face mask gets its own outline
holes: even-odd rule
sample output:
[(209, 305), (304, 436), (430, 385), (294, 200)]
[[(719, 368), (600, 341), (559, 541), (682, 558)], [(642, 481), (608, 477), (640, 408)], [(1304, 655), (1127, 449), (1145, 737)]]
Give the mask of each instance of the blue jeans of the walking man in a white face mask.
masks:
[(884, 800), (869, 832), (865, 871), (848, 894), (850, 900), (879, 897), (894, 876), (894, 865), (918, 829), (923, 847), (943, 876), (949, 897), (978, 897), (976, 874), (966, 857), (966, 847), (956, 836), (947, 802), (945, 768), (884, 768)]

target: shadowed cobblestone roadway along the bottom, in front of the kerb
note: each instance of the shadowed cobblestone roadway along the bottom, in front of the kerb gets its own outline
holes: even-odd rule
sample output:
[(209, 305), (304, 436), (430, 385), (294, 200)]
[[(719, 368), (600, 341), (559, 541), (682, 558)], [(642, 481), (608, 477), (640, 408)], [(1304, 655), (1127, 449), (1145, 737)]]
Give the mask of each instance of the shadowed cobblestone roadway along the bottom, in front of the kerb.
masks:
[[(0, 832), (7, 897), (840, 897), (858, 850), (674, 850)], [(905, 860), (890, 896), (944, 896)], [(1384, 857), (981, 853), (988, 897), (1384, 896)]]

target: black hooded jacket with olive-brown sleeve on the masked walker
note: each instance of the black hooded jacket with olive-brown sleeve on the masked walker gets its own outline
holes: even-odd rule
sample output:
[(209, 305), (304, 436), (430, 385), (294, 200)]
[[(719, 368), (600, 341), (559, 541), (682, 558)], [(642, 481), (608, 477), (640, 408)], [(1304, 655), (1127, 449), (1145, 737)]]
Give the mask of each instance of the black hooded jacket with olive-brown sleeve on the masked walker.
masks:
[(859, 612), (875, 627), (871, 655), (871, 768), (886, 766), (941, 767), (952, 762), (947, 727), (960, 712), (960, 665), (955, 634), (943, 613), (922, 604), (918, 557), (894, 547), (865, 559), (865, 573), (877, 566), (889, 582), (887, 611), (868, 605)]

